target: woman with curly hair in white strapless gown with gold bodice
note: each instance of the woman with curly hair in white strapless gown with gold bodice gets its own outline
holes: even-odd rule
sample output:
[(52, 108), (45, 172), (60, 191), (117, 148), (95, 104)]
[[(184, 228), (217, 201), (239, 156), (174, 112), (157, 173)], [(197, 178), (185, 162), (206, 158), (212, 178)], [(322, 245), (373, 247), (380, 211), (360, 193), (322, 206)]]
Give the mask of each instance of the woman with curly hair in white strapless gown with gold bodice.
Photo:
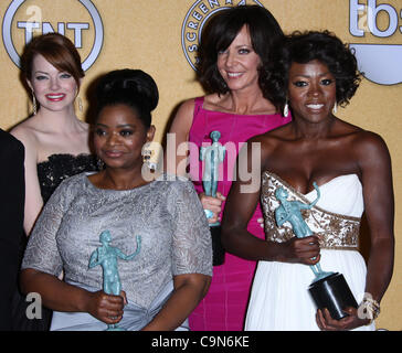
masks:
[[(254, 172), (252, 142), (261, 146), (261, 190), (244, 192), (255, 179), (241, 179), (245, 165), (240, 158), (222, 222), (226, 250), (258, 260), (245, 330), (373, 330), (392, 276), (393, 191), (381, 137), (335, 116), (337, 105), (347, 105), (360, 83), (356, 58), (335, 35), (307, 32), (290, 35), (274, 63), (267, 83), (272, 101), (285, 111), (289, 106), (294, 119), (252, 138), (243, 149), (248, 172)], [(314, 182), (318, 203), (302, 212), (314, 235), (298, 238), (288, 222), (275, 222), (275, 191), (283, 188), (287, 200), (310, 204), (317, 197)], [(260, 195), (265, 240), (246, 231)], [(371, 237), (368, 267), (358, 252), (363, 211)], [(318, 261), (324, 271), (345, 276), (359, 303), (345, 308), (343, 319), (317, 310), (308, 293), (315, 276), (306, 265)]]

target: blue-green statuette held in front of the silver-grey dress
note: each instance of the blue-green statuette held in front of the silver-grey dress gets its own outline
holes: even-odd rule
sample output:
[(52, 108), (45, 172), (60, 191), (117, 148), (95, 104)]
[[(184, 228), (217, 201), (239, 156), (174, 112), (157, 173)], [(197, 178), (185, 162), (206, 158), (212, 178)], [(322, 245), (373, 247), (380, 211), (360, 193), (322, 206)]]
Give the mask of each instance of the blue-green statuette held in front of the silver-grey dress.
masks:
[[(117, 259), (131, 260), (138, 255), (141, 248), (141, 237), (137, 235), (137, 249), (131, 255), (124, 255), (117, 247), (110, 246), (112, 235), (109, 231), (104, 231), (99, 235), (102, 246), (91, 254), (89, 268), (97, 265), (103, 269), (103, 290), (106, 295), (119, 296), (121, 291), (120, 277), (118, 275)], [(105, 331), (125, 331), (117, 324), (108, 324)]]

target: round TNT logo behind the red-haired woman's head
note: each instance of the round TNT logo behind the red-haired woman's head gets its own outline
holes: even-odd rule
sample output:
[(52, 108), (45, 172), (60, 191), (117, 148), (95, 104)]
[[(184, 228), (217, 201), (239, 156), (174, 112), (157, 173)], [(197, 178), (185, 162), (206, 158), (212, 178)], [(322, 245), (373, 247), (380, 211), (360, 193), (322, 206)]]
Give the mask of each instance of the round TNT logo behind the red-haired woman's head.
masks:
[(91, 0), (13, 0), (2, 22), (4, 47), (20, 66), (23, 46), (33, 35), (59, 32), (75, 44), (88, 69), (100, 53), (104, 30), (100, 15)]

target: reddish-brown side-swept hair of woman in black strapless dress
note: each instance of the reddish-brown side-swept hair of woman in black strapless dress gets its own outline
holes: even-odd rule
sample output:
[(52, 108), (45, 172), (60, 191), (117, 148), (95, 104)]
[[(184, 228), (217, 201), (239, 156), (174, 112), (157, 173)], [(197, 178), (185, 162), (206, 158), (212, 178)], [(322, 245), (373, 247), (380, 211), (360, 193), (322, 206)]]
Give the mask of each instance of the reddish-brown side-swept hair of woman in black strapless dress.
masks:
[(22, 76), (32, 78), (32, 66), (34, 57), (40, 54), (60, 72), (71, 74), (80, 89), (80, 79), (85, 76), (81, 65), (81, 56), (75, 45), (64, 35), (47, 33), (34, 36), (29, 42), (21, 55)]

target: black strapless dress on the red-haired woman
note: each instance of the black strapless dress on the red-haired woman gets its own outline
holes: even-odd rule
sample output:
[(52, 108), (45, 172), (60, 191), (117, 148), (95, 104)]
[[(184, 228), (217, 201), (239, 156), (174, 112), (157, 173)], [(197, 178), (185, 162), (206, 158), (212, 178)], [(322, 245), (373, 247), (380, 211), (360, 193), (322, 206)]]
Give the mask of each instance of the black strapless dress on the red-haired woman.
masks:
[[(93, 154), (73, 156), (68, 153), (52, 154), (44, 162), (38, 163), (38, 179), (41, 188), (43, 204), (47, 202), (60, 183), (82, 172), (97, 171), (96, 157)], [(21, 260), (27, 246), (27, 237), (21, 244)], [(19, 291), (13, 298), (13, 330), (15, 331), (47, 331), (52, 320), (52, 311), (42, 307), (41, 319), (28, 319), (27, 309), (33, 302), (27, 302), (25, 296)], [(30, 309), (29, 309), (30, 310)], [(32, 311), (32, 310), (30, 310)]]

